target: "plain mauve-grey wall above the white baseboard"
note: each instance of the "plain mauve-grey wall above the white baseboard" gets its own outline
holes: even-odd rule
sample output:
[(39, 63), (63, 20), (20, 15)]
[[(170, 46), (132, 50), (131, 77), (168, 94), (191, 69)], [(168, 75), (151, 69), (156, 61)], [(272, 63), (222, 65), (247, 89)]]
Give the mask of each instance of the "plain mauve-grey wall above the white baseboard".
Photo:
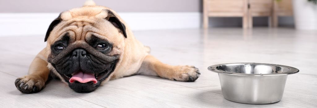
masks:
[[(0, 0), (0, 13), (61, 12), (86, 0)], [(117, 12), (201, 12), (202, 0), (94, 0)]]

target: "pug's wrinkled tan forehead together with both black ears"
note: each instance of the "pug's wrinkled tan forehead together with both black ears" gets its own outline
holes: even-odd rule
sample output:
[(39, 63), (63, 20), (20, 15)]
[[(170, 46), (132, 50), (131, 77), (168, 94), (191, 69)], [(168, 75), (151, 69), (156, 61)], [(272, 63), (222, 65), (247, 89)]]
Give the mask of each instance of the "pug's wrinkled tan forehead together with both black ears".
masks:
[(66, 33), (72, 42), (87, 41), (91, 35), (114, 43), (127, 38), (126, 28), (120, 17), (112, 10), (99, 6), (86, 6), (62, 12), (50, 24), (45, 41), (53, 44)]

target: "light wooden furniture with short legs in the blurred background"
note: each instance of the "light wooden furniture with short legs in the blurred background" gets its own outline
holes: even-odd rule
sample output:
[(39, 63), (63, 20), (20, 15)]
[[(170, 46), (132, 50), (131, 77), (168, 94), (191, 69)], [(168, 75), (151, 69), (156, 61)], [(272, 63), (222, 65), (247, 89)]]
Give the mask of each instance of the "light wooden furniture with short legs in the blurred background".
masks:
[(243, 28), (253, 27), (253, 17), (267, 16), (276, 27), (278, 16), (290, 15), (291, 0), (203, 0), (204, 28), (209, 17), (242, 17)]

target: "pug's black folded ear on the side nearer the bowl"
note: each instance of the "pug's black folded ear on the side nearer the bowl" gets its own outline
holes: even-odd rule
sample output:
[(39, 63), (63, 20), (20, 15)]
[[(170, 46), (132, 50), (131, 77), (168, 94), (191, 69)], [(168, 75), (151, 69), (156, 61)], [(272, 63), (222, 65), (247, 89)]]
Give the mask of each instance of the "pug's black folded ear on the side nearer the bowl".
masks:
[(105, 18), (109, 22), (113, 24), (114, 27), (117, 27), (121, 30), (122, 34), (124, 35), (125, 38), (126, 36), (126, 26), (111, 12), (110, 10), (108, 11), (108, 16)]

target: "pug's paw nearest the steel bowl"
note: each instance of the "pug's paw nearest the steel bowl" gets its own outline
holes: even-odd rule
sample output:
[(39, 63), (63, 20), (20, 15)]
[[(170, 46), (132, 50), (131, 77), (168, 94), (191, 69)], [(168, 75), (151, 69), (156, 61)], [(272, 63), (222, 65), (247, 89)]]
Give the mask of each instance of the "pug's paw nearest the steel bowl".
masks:
[(199, 69), (195, 66), (176, 66), (173, 79), (177, 81), (195, 81), (199, 75)]

